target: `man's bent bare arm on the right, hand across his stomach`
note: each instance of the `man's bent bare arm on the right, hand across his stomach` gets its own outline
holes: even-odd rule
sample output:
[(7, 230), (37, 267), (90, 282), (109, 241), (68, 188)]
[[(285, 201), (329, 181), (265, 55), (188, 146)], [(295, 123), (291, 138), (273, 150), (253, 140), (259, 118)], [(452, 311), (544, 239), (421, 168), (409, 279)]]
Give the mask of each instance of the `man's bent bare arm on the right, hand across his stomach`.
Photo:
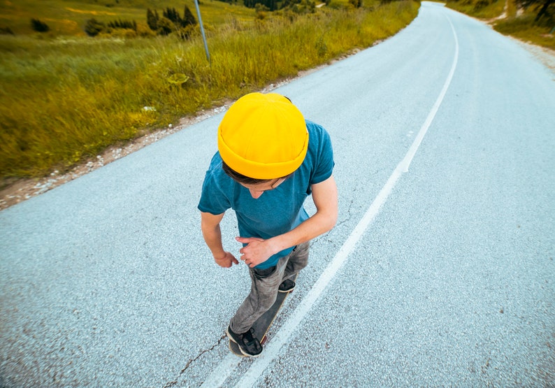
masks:
[(263, 240), (261, 238), (238, 237), (240, 243), (248, 244), (239, 252), (243, 254), (241, 260), (251, 267), (266, 261), (272, 254), (288, 247), (305, 243), (326, 231), (331, 230), (338, 217), (338, 195), (336, 180), (333, 175), (324, 182), (312, 185), (312, 200), (316, 206), (316, 213), (295, 229)]

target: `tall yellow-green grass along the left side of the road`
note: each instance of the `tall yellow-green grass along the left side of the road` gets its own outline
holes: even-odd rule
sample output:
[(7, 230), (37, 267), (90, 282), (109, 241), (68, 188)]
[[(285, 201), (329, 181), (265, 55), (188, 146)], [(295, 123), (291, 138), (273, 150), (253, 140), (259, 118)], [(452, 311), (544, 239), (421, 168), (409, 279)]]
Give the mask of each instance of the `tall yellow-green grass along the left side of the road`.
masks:
[[(64, 171), (118, 142), (366, 48), (405, 27), (419, 4), (277, 13), (199, 36), (0, 36), (2, 178)], [(145, 109), (145, 107), (148, 107)]]

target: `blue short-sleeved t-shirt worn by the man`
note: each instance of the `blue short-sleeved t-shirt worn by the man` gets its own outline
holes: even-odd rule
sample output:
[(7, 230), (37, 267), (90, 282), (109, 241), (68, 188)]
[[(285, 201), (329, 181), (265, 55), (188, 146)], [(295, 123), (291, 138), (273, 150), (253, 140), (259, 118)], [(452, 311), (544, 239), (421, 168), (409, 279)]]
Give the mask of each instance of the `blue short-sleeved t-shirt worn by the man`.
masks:
[[(227, 175), (222, 157), (216, 152), (206, 172), (199, 210), (219, 215), (229, 208), (235, 210), (241, 237), (272, 238), (287, 233), (308, 220), (303, 203), (312, 192), (311, 185), (324, 182), (333, 171), (333, 150), (326, 130), (306, 120), (308, 150), (303, 164), (278, 187), (252, 198), (249, 189)], [(270, 268), (293, 250), (289, 247), (256, 268)]]

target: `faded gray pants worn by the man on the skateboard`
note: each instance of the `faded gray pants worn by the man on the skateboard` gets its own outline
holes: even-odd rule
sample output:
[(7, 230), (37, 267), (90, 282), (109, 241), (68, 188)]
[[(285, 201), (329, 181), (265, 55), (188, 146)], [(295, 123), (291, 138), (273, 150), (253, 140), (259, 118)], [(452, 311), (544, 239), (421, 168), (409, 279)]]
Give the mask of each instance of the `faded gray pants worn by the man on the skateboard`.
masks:
[(249, 268), (250, 294), (229, 323), (234, 333), (242, 334), (248, 331), (254, 321), (272, 307), (278, 297), (280, 284), (305, 268), (308, 264), (308, 245), (297, 245), (293, 252), (282, 257), (276, 266), (266, 269)]

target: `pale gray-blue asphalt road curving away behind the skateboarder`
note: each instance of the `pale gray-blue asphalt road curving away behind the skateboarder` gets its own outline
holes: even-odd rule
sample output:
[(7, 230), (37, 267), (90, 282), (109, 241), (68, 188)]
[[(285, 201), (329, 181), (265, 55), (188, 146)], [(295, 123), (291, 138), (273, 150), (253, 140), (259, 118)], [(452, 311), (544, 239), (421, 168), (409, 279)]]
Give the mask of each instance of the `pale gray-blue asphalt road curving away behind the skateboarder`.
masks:
[(0, 386), (555, 385), (554, 81), (424, 2), (276, 90), (331, 134), (340, 219), (256, 361), (223, 338), (247, 268), (196, 210), (222, 114), (1, 211)]

